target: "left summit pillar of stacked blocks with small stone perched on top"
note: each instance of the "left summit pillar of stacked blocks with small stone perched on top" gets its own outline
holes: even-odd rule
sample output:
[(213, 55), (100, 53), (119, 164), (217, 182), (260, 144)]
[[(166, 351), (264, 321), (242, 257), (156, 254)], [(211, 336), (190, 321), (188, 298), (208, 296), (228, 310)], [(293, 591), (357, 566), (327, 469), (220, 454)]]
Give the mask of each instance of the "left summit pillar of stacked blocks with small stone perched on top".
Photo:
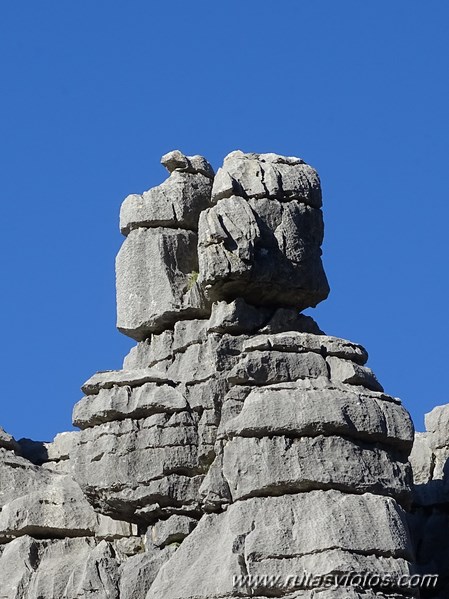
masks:
[(198, 219), (210, 205), (213, 170), (202, 156), (170, 152), (170, 177), (120, 211), (127, 235), (116, 261), (117, 327), (134, 339), (170, 328), (181, 318), (208, 314), (196, 279)]

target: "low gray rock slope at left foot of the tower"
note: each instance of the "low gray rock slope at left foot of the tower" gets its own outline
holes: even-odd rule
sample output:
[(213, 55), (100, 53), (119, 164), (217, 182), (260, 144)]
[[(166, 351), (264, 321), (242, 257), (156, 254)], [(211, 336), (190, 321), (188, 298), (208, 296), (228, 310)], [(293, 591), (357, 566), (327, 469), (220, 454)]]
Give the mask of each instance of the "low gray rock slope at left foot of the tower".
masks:
[(143, 550), (136, 525), (96, 512), (64, 473), (70, 467), (58, 471), (58, 463), (69, 466), (66, 450), (77, 434), (34, 444), (34, 456), (47, 460), (36, 465), (22, 455), (29, 443), (0, 431), (2, 599), (118, 598), (121, 569)]

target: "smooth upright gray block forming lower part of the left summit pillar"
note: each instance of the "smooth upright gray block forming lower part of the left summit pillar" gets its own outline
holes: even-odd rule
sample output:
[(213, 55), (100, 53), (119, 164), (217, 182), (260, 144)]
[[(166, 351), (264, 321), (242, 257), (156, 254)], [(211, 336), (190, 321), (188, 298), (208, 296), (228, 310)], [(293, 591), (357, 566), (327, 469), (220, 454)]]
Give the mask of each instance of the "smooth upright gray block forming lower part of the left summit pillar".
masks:
[(176, 320), (208, 315), (196, 286), (196, 234), (183, 229), (136, 229), (116, 260), (117, 327), (138, 341)]

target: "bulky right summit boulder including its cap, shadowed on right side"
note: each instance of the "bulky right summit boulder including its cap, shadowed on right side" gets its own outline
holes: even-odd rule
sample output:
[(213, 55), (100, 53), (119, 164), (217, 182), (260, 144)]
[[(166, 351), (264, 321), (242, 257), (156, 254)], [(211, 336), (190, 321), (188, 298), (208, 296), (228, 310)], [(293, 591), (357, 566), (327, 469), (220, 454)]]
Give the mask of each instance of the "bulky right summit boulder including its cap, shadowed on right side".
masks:
[(329, 293), (316, 171), (297, 158), (232, 152), (200, 216), (199, 282), (214, 301), (303, 310)]

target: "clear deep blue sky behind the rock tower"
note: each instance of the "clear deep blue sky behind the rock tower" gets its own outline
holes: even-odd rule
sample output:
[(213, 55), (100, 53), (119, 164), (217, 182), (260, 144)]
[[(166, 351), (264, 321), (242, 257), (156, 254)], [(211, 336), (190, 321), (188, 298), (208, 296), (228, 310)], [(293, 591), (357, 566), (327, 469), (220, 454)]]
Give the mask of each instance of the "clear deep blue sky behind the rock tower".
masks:
[(449, 402), (446, 0), (14, 0), (0, 8), (1, 413), (71, 428), (120, 368), (119, 206), (179, 148), (297, 155), (324, 191), (331, 295), (417, 428)]

